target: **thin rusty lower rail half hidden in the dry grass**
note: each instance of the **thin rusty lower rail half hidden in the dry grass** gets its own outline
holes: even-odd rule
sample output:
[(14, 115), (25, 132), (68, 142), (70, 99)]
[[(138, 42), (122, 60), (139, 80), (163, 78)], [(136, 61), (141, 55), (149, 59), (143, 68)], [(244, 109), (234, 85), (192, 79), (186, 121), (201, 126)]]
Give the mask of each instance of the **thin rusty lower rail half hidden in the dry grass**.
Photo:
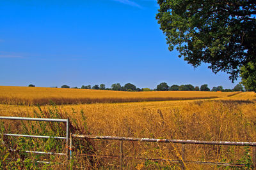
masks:
[[(84, 155), (87, 157), (107, 157), (107, 158), (119, 158), (118, 155), (93, 155), (93, 154), (78, 154)], [(143, 159), (143, 160), (155, 160), (155, 161), (166, 161), (173, 163), (182, 163), (182, 160), (170, 160), (170, 159), (154, 159), (154, 158), (140, 158), (140, 157), (123, 157), (124, 159)], [(233, 164), (227, 162), (204, 162), (204, 161), (193, 161), (193, 160), (185, 160), (185, 163), (194, 163), (194, 164), (209, 164), (209, 165), (217, 165), (217, 166), (239, 166), (243, 167), (245, 164)]]

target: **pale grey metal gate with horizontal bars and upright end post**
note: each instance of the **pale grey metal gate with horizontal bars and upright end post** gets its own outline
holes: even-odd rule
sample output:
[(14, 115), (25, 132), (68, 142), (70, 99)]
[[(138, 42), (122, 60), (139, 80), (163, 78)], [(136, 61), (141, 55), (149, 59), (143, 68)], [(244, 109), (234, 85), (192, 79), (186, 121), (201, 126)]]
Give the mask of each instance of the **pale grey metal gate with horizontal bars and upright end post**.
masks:
[[(41, 121), (41, 122), (63, 122), (66, 123), (66, 136), (39, 136), (39, 135), (28, 135), (28, 134), (3, 134), (4, 136), (17, 136), (17, 137), (26, 137), (26, 138), (54, 138), (54, 139), (63, 139), (66, 140), (66, 153), (56, 153), (56, 152), (40, 152), (40, 151), (31, 151), (26, 150), (26, 153), (36, 153), (36, 154), (45, 154), (45, 155), (66, 155), (67, 160), (71, 157), (71, 151), (69, 152), (69, 119), (59, 119), (59, 118), (28, 118), (28, 117), (0, 117), (2, 120), (28, 120), (28, 121)], [(15, 151), (15, 150), (12, 150)], [(49, 164), (50, 162), (38, 161)]]

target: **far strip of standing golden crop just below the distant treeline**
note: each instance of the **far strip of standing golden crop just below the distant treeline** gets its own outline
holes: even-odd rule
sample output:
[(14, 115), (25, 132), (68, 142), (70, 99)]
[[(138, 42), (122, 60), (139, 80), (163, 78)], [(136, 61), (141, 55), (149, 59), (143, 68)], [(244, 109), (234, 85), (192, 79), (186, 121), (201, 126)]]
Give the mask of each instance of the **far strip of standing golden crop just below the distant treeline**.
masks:
[(60, 89), (0, 86), (0, 104), (84, 104), (138, 101), (172, 101), (228, 97), (237, 92), (120, 92), (111, 90)]

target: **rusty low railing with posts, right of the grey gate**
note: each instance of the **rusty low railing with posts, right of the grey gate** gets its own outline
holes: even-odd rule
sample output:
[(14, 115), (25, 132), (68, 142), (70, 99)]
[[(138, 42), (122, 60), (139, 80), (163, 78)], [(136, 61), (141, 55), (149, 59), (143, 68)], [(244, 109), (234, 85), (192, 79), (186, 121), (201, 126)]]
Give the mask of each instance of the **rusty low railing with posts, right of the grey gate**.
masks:
[[(196, 140), (180, 140), (180, 139), (152, 139), (152, 138), (128, 138), (128, 137), (118, 137), (118, 136), (92, 136), (92, 135), (84, 135), (84, 134), (70, 134), (70, 148), (72, 148), (72, 138), (85, 138), (85, 139), (105, 139), (105, 140), (118, 140), (120, 141), (120, 153), (119, 155), (111, 155), (111, 157), (116, 157), (120, 159), (120, 167), (123, 167), (123, 159), (133, 159), (132, 157), (124, 157), (123, 155), (123, 141), (144, 141), (144, 142), (153, 142), (153, 143), (180, 143), (182, 144), (182, 159), (180, 160), (169, 160), (169, 159), (154, 159), (154, 158), (138, 158), (135, 159), (143, 159), (143, 160), (157, 160), (157, 161), (168, 161), (180, 163), (182, 165), (182, 169), (186, 168), (186, 163), (193, 164), (208, 164), (208, 165), (216, 165), (216, 166), (236, 166), (236, 167), (244, 167), (245, 164), (233, 164), (227, 162), (206, 162), (206, 161), (193, 161), (186, 160), (186, 145), (230, 145), (230, 146), (252, 146), (253, 147), (253, 169), (256, 169), (256, 142), (234, 142), (234, 141), (196, 141)], [(84, 154), (86, 155), (86, 154)], [(92, 157), (109, 157), (109, 155), (86, 155)]]

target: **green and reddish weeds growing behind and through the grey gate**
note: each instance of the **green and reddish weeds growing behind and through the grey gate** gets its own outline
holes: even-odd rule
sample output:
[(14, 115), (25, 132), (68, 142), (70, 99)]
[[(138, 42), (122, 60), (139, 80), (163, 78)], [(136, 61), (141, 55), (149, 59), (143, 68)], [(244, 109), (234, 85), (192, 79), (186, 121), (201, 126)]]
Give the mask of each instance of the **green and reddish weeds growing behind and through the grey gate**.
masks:
[[(34, 110), (35, 117), (62, 118), (56, 106), (52, 105), (46, 111), (42, 111), (38, 107), (40, 113)], [(33, 134), (39, 136), (65, 136), (65, 128), (57, 122), (29, 122), (25, 124), (20, 122), (16, 128), (19, 129), (19, 134)], [(3, 123), (0, 124), (1, 134), (16, 132), (11, 127), (6, 127)], [(17, 133), (17, 132), (16, 132)], [(0, 169), (49, 169), (49, 167), (61, 164), (56, 160), (56, 155), (50, 157), (43, 154), (29, 153), (26, 151), (42, 151), (42, 152), (63, 152), (65, 151), (65, 142), (58, 141), (54, 138), (24, 138), (1, 136), (0, 138)], [(64, 158), (65, 159), (65, 158)], [(42, 164), (38, 161), (46, 160), (50, 164)]]

